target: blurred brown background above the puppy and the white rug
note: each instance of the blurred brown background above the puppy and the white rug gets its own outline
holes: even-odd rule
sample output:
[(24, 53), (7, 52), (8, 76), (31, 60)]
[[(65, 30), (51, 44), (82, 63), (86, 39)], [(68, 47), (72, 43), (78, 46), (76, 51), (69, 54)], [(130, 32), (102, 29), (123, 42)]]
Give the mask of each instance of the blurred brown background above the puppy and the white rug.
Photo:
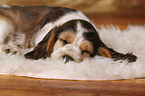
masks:
[(145, 0), (0, 0), (0, 4), (69, 7), (82, 11), (99, 25), (145, 22)]

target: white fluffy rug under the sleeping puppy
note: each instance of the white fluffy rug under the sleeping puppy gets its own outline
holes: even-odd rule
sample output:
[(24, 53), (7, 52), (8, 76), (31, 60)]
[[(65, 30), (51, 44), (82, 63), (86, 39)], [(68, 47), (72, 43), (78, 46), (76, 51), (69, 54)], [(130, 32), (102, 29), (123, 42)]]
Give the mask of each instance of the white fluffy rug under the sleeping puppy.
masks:
[[(145, 26), (128, 26), (125, 30), (115, 27), (100, 28), (103, 42), (121, 53), (133, 52), (136, 62), (113, 61), (96, 56), (81, 63), (63, 60), (27, 60), (23, 55), (0, 53), (0, 74), (47, 79), (68, 80), (117, 80), (145, 77)], [(28, 50), (23, 50), (24, 53)]]

